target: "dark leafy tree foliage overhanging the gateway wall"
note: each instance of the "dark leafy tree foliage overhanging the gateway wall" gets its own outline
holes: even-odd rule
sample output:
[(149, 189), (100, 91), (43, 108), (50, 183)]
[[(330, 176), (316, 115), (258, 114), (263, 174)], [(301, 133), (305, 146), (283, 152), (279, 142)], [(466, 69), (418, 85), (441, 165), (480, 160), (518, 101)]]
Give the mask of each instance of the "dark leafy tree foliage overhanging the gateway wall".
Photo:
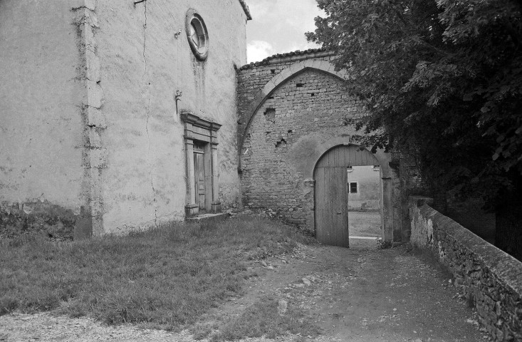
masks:
[(522, 0), (317, 1), (306, 36), (350, 70), (374, 148), (492, 204), (521, 188)]

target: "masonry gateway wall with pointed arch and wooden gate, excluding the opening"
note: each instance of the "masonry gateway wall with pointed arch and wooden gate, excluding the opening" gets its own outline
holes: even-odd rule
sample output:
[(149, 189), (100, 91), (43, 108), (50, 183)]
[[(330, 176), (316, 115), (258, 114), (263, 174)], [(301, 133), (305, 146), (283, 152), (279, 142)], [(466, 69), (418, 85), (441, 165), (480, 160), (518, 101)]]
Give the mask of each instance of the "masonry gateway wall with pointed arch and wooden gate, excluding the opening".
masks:
[(351, 122), (365, 115), (364, 103), (348, 93), (348, 76), (330, 58), (328, 51), (304, 51), (238, 71), (242, 202), (274, 210), (321, 242), (348, 247), (340, 228), (347, 225), (346, 167), (381, 165), (382, 237), (401, 241), (407, 232), (398, 174), (387, 153), (360, 150), (364, 133)]

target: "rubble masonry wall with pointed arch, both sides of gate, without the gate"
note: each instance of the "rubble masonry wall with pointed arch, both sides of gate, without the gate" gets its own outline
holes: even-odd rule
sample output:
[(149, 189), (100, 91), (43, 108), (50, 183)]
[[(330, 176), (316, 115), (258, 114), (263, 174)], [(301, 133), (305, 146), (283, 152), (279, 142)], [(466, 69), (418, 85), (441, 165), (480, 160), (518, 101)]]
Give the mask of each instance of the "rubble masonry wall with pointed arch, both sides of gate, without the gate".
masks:
[[(330, 61), (315, 56), (239, 71), (239, 86), (244, 88), (238, 93), (242, 123), (237, 131), (238, 171), (241, 201), (247, 207), (273, 209), (289, 222), (315, 232), (314, 170), (318, 160), (330, 150), (345, 150), (338, 148), (342, 145), (362, 143), (361, 132), (345, 124), (346, 118), (366, 113), (364, 101), (346, 90), (345, 81), (350, 78), (350, 71), (335, 71)], [(311, 95), (315, 84), (325, 89), (320, 92), (325, 98)], [(268, 111), (262, 115), (269, 107), (280, 107), (277, 123)], [(278, 146), (280, 138), (286, 140), (284, 147)], [(380, 165), (383, 238), (405, 241), (409, 222), (403, 219), (400, 175), (395, 166), (390, 166), (391, 155), (377, 150), (374, 156), (375, 164)]]

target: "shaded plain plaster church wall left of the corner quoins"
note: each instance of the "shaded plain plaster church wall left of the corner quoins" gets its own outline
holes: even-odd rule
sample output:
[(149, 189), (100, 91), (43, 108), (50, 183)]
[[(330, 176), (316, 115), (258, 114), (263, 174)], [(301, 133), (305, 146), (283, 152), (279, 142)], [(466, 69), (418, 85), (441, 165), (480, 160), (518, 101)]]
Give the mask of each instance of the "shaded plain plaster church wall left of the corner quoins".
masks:
[(0, 1), (0, 234), (71, 236), (85, 209), (75, 11), (83, 1)]

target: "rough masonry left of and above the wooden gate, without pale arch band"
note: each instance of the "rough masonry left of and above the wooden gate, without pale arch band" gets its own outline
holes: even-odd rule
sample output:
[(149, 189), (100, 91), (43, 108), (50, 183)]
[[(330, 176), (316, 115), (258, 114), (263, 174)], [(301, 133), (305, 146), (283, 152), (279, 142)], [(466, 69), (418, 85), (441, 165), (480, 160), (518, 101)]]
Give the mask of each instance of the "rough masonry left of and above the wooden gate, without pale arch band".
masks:
[[(291, 64), (239, 71), (241, 125), (248, 123), (247, 108), (255, 94)], [(357, 132), (349, 122), (363, 113), (362, 102), (348, 95), (343, 81), (323, 71), (308, 68), (278, 86), (256, 110), (248, 127), (239, 129), (243, 204), (273, 209), (284, 219), (313, 229), (313, 179), (307, 157), (335, 137), (357, 143)]]

